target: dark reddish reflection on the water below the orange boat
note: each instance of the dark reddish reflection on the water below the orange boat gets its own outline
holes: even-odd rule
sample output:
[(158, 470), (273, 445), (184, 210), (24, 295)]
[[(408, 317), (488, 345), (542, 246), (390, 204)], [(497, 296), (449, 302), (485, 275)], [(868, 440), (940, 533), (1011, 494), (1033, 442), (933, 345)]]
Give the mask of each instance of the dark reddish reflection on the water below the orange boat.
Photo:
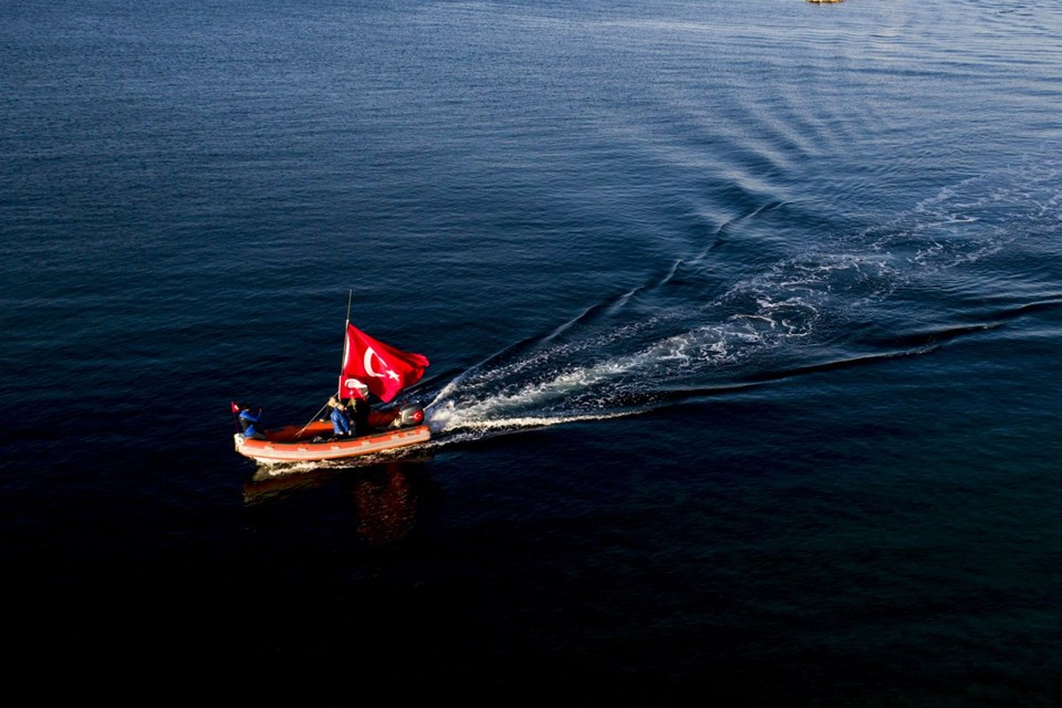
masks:
[[(243, 486), (249, 508), (314, 506), (322, 499), (351, 499), (358, 537), (386, 544), (407, 537), (433, 491), (427, 458), (376, 464), (332, 465), (289, 473), (259, 469)], [(316, 501), (308, 497), (317, 497)]]

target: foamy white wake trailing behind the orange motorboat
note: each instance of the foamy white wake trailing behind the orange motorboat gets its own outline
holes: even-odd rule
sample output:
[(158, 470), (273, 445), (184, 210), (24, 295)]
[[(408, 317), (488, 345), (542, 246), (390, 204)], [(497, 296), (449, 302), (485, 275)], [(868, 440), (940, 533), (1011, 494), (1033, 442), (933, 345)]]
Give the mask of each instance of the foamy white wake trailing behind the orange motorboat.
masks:
[[(677, 259), (642, 287), (429, 392), (427, 423), (445, 442), (629, 416), (851, 362), (920, 354), (992, 329), (1023, 303), (966, 321), (962, 293), (981, 292), (993, 277), (974, 267), (1019, 238), (1023, 250), (1049, 247), (1062, 218), (1058, 176), (1011, 175), (1006, 184), (1018, 186), (1010, 188), (1000, 175), (965, 180), (888, 223), (816, 235), (814, 249), (729, 284), (720, 285), (718, 273), (740, 269), (720, 263), (712, 249)], [(933, 309), (924, 322), (909, 321), (909, 303), (891, 304), (924, 289), (940, 292), (919, 294)], [(898, 306), (908, 310), (891, 312)]]

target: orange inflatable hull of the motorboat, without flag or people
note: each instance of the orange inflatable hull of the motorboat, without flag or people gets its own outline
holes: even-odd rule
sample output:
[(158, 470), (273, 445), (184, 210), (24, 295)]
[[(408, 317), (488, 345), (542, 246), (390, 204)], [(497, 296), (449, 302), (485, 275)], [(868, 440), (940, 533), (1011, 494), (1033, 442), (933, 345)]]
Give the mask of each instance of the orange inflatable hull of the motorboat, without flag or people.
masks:
[(264, 439), (235, 435), (236, 451), (259, 462), (317, 462), (337, 460), (427, 442), (431, 431), (426, 425), (379, 430), (356, 438), (332, 438), (332, 424), (314, 420), (310, 425), (267, 430)]

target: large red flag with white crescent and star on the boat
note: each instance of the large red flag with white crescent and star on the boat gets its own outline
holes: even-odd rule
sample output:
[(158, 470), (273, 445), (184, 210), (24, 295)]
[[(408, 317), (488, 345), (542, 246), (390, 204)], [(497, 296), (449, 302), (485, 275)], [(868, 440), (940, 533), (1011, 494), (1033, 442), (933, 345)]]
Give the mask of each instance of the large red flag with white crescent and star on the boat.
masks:
[(340, 396), (343, 398), (362, 398), (357, 391), (361, 382), (387, 403), (403, 388), (420, 381), (427, 367), (428, 360), (424, 355), (396, 350), (346, 323), (343, 372), (340, 374)]

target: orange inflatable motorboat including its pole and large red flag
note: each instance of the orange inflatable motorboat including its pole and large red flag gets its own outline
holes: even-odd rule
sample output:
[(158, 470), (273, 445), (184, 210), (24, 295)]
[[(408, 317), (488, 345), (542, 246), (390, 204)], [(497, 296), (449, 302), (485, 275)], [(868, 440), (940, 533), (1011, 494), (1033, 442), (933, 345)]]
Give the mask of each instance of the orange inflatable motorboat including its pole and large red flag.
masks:
[[(424, 408), (413, 404), (371, 408), (366, 429), (356, 437), (336, 435), (331, 420), (320, 416), (337, 400), (367, 400), (368, 394), (386, 406), (420, 381), (428, 364), (423, 354), (385, 344), (351, 324), (348, 301), (340, 382), (329, 404), (305, 425), (236, 433), (232, 436), (236, 451), (260, 464), (274, 465), (341, 460), (427, 442), (431, 430), (425, 421)], [(246, 406), (232, 402), (231, 407), (239, 424), (240, 412)]]

